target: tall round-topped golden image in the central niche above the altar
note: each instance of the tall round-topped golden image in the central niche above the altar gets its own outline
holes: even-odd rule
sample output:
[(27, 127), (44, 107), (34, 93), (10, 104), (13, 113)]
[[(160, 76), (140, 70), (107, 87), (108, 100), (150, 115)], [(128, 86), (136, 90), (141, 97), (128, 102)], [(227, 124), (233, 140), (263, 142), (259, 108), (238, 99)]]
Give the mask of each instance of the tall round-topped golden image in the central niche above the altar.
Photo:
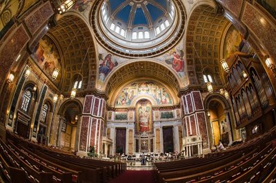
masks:
[(138, 133), (150, 132), (152, 129), (152, 105), (147, 99), (141, 99), (136, 106)]

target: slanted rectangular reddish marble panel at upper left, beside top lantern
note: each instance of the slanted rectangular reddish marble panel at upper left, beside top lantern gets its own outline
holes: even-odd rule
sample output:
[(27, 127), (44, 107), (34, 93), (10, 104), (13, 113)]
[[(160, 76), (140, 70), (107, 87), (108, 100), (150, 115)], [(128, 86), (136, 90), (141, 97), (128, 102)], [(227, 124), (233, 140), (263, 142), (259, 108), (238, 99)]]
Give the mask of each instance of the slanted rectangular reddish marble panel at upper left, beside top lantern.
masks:
[(25, 23), (30, 33), (34, 35), (41, 26), (46, 24), (48, 19), (54, 15), (54, 13), (50, 1), (47, 1), (43, 6), (40, 6), (37, 11), (26, 17)]

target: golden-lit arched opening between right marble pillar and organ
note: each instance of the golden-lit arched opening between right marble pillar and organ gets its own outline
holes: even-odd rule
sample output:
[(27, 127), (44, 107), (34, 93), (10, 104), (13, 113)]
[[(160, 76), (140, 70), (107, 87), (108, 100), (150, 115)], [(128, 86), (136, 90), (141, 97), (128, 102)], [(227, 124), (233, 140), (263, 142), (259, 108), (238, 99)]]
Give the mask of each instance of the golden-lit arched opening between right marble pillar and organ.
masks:
[(225, 145), (231, 144), (233, 142), (231, 119), (233, 118), (227, 100), (219, 93), (213, 93), (206, 97), (204, 103), (210, 128), (210, 144), (217, 145), (219, 140)]

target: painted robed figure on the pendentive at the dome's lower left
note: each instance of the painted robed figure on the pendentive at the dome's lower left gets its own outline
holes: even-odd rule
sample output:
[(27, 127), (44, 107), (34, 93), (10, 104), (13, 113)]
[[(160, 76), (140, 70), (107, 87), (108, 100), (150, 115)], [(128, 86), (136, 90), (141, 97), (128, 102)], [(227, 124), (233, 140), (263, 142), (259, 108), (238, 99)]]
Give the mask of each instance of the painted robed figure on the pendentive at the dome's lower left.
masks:
[(112, 55), (108, 53), (104, 59), (101, 58), (102, 55), (99, 55), (99, 79), (101, 81), (104, 81), (110, 71), (115, 68), (115, 66), (118, 65), (117, 61), (113, 62), (112, 61)]

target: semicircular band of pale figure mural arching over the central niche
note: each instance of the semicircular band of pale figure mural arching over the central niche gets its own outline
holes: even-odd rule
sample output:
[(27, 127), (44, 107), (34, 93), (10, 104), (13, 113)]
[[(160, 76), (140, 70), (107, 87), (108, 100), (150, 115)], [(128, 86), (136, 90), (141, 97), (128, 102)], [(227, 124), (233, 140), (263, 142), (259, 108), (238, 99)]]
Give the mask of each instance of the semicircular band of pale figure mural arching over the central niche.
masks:
[(155, 81), (134, 81), (119, 92), (115, 106), (130, 106), (137, 96), (149, 96), (157, 105), (172, 105), (173, 100), (168, 90)]

